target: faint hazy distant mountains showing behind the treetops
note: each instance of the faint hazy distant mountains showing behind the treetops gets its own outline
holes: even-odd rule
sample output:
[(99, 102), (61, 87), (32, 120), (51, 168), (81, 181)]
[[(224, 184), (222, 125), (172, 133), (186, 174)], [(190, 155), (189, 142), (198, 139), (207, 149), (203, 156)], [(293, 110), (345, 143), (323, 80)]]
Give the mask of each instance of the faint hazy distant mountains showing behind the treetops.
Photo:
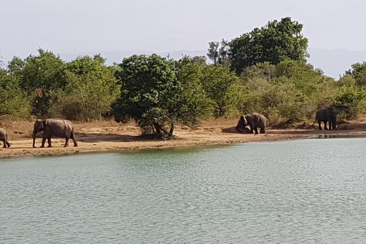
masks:
[[(324, 50), (309, 48), (310, 53), (309, 63), (314, 67), (320, 68), (324, 71), (325, 75), (338, 79), (340, 75), (351, 68), (351, 64), (366, 61), (366, 50), (364, 51), (350, 51), (345, 49), (336, 50)], [(113, 64), (114, 62), (120, 63), (123, 58), (130, 57), (133, 54), (146, 54), (151, 55), (151, 51), (112, 51), (112, 52), (89, 52), (89, 53), (61, 53), (60, 56), (63, 60), (72, 60), (81, 55), (94, 55), (101, 53), (101, 55), (107, 58), (107, 64)], [(180, 59), (182, 55), (193, 56), (206, 56), (207, 50), (180, 50), (171, 52), (158, 52), (160, 56), (170, 55), (173, 59)]]

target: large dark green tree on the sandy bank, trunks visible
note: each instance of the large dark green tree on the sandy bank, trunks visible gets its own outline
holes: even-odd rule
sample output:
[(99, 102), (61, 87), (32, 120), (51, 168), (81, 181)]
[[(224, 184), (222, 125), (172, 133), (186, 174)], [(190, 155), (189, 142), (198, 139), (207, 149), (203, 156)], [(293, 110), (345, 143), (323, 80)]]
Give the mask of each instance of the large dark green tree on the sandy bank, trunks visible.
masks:
[[(199, 83), (201, 65), (158, 55), (134, 55), (118, 66), (121, 96), (113, 106), (116, 121), (135, 119), (143, 133), (171, 137), (176, 123), (197, 125), (211, 102)], [(167, 128), (168, 127), (168, 128)]]

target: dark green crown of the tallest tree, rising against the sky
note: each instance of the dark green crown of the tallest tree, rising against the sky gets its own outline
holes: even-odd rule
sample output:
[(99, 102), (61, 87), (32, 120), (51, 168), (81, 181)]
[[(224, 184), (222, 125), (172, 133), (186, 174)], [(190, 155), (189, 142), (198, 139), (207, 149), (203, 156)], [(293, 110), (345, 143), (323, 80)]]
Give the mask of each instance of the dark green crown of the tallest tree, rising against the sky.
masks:
[(302, 27), (286, 17), (233, 39), (229, 44), (232, 69), (240, 74), (244, 68), (257, 63), (278, 64), (285, 59), (305, 61), (309, 57), (308, 40), (301, 33)]

